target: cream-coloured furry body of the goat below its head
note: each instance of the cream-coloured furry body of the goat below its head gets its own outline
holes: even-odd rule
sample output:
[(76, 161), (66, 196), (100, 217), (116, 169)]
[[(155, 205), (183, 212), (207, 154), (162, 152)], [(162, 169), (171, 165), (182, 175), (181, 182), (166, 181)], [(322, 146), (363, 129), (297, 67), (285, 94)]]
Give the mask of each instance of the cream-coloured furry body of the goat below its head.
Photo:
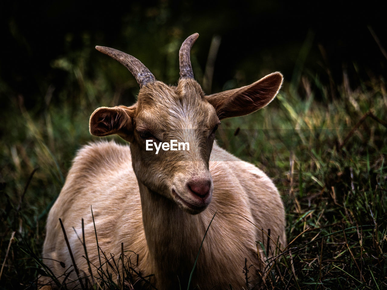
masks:
[[(262, 171), (217, 145), (212, 148), (210, 172), (215, 184), (214, 197), (208, 208), (198, 215), (185, 213), (161, 198), (152, 200), (160, 204), (158, 208), (145, 209), (150, 230), (154, 232), (147, 244), (130, 148), (115, 142), (98, 142), (82, 148), (51, 209), (47, 224), (52, 228), (47, 230), (43, 256), (63, 261), (67, 266), (72, 264), (58, 222), (58, 217), (62, 217), (77, 266), (88, 273), (86, 259), (82, 258), (82, 244), (72, 229), (75, 227), (81, 235), (80, 219), (84, 218), (89, 259), (92, 264), (99, 265), (92, 205), (99, 246), (107, 256), (113, 253), (117, 259), (123, 242), (125, 251), (139, 254), (138, 268), (144, 275), (156, 274), (159, 278), (156, 287), (170, 289), (164, 287), (165, 283), (169, 285), (170, 279), (175, 280), (179, 275), (182, 280), (182, 276), (189, 275), (205, 230), (218, 212), (204, 240), (192, 285), (211, 289), (231, 283), (235, 289), (241, 289), (245, 286), (242, 273), (245, 258), (248, 264), (259, 268), (255, 241), (266, 244), (267, 237), (239, 215), (223, 212), (239, 213), (265, 232), (271, 229), (272, 239), (277, 242), (279, 236), (279, 242), (285, 245), (283, 204), (274, 184)], [(155, 253), (154, 257), (150, 251)], [(132, 262), (136, 261), (135, 254), (126, 255)], [(47, 264), (53, 267), (55, 274), (63, 274), (59, 263), (50, 261)], [(250, 270), (251, 276), (257, 275), (253, 268)], [(76, 280), (75, 273), (71, 278)]]

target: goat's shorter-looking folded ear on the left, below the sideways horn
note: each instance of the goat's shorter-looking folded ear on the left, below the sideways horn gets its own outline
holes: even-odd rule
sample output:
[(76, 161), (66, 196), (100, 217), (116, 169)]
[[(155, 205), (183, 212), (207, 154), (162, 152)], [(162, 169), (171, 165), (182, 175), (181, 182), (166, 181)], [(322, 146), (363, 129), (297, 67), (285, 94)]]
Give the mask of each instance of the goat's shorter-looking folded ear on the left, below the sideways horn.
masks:
[(94, 136), (117, 134), (130, 141), (133, 136), (135, 106), (100, 107), (91, 114), (89, 129)]

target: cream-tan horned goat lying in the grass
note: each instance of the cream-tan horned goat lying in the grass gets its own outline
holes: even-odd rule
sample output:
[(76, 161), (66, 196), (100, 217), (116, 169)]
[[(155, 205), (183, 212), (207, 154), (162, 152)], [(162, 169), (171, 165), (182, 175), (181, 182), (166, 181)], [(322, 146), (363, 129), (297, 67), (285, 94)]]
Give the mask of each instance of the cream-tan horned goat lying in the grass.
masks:
[[(58, 281), (65, 276), (58, 261), (72, 265), (58, 218), (83, 281), (90, 275), (88, 263), (72, 229), (82, 233), (81, 218), (94, 276), (99, 266), (97, 235), (101, 251), (112, 253), (116, 260), (122, 242), (126, 256), (138, 254), (137, 271), (154, 274), (151, 282), (158, 289), (187, 287), (212, 218), (192, 276), (191, 285), (200, 289), (253, 288), (264, 265), (258, 258), (258, 241), (268, 246), (270, 229), (269, 255), (276, 246), (286, 245), (284, 207), (271, 179), (214, 142), (219, 120), (250, 114), (269, 104), (283, 76), (274, 72), (251, 85), (206, 96), (194, 79), (190, 61), (198, 36), (192, 34), (182, 44), (177, 86), (156, 80), (133, 56), (96, 46), (130, 70), (140, 91), (130, 107), (100, 107), (91, 115), (92, 135), (116, 134), (129, 146), (91, 143), (75, 157), (48, 215), (43, 246), (43, 258), (50, 258), (45, 261), (61, 277)], [(186, 142), (189, 150), (155, 154), (146, 150), (147, 140)], [(132, 254), (131, 261), (135, 257)], [(253, 266), (244, 270), (247, 264)], [(74, 271), (68, 281), (78, 283)], [(40, 283), (55, 287), (43, 277)]]

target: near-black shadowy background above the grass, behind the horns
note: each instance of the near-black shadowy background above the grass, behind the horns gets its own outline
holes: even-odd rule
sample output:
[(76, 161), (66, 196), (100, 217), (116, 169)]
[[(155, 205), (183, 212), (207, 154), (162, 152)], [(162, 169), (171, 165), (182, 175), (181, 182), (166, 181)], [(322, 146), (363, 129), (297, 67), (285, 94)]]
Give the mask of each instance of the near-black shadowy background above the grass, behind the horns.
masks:
[[(12, 100), (22, 96), (27, 109), (39, 111), (48, 90), (53, 92), (54, 104), (82, 98), (79, 80), (72, 76), (74, 67), (82, 68), (82, 78), (98, 79), (99, 71), (104, 71), (103, 77), (113, 87), (129, 81), (120, 90), (118, 102), (134, 98), (138, 90), (134, 78), (98, 53), (95, 45), (134, 55), (156, 78), (174, 84), (178, 49), (194, 32), (200, 34), (192, 56), (199, 82), (211, 39), (221, 37), (213, 92), (281, 71), (295, 87), (305, 75), (314, 86), (326, 84), (329, 96), (334, 97), (343, 72), (348, 73), (352, 87), (385, 75), (386, 58), (380, 46), (386, 48), (387, 41), (381, 3), (2, 1), (2, 107), (6, 110)], [(69, 88), (72, 93), (61, 95)]]

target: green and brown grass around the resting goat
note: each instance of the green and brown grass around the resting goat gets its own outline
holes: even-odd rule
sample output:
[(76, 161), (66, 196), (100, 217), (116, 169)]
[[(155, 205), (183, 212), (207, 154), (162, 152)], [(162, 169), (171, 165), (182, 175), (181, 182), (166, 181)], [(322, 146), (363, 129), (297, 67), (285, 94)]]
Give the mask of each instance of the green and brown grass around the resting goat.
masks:
[[(27, 110), (25, 96), (19, 96), (5, 112), (2, 289), (37, 287), (36, 277), (45, 269), (40, 256), (45, 219), (76, 150), (93, 140), (89, 116), (98, 106), (115, 105), (107, 96), (117, 101), (122, 94), (122, 87), (111, 89), (102, 73), (87, 78), (83, 67), (82, 62), (68, 68), (74, 82), (69, 87), (80, 89), (59, 94), (65, 100), (75, 92), (75, 103), (74, 98), (52, 103), (49, 88), (43, 109)], [(226, 119), (218, 130), (221, 146), (265, 171), (283, 197), (289, 245), (269, 258), (264, 289), (387, 288), (385, 81), (373, 79), (352, 90), (345, 80), (344, 74), (343, 84), (336, 85), (339, 96), (332, 99), (317, 77), (302, 77), (298, 89), (285, 84), (267, 108)], [(125, 263), (124, 270), (118, 260), (112, 263), (115, 271), (125, 271), (123, 288), (131, 289), (135, 263)], [(247, 270), (247, 265), (235, 269)], [(122, 287), (110, 273), (100, 275), (101, 287)]]

